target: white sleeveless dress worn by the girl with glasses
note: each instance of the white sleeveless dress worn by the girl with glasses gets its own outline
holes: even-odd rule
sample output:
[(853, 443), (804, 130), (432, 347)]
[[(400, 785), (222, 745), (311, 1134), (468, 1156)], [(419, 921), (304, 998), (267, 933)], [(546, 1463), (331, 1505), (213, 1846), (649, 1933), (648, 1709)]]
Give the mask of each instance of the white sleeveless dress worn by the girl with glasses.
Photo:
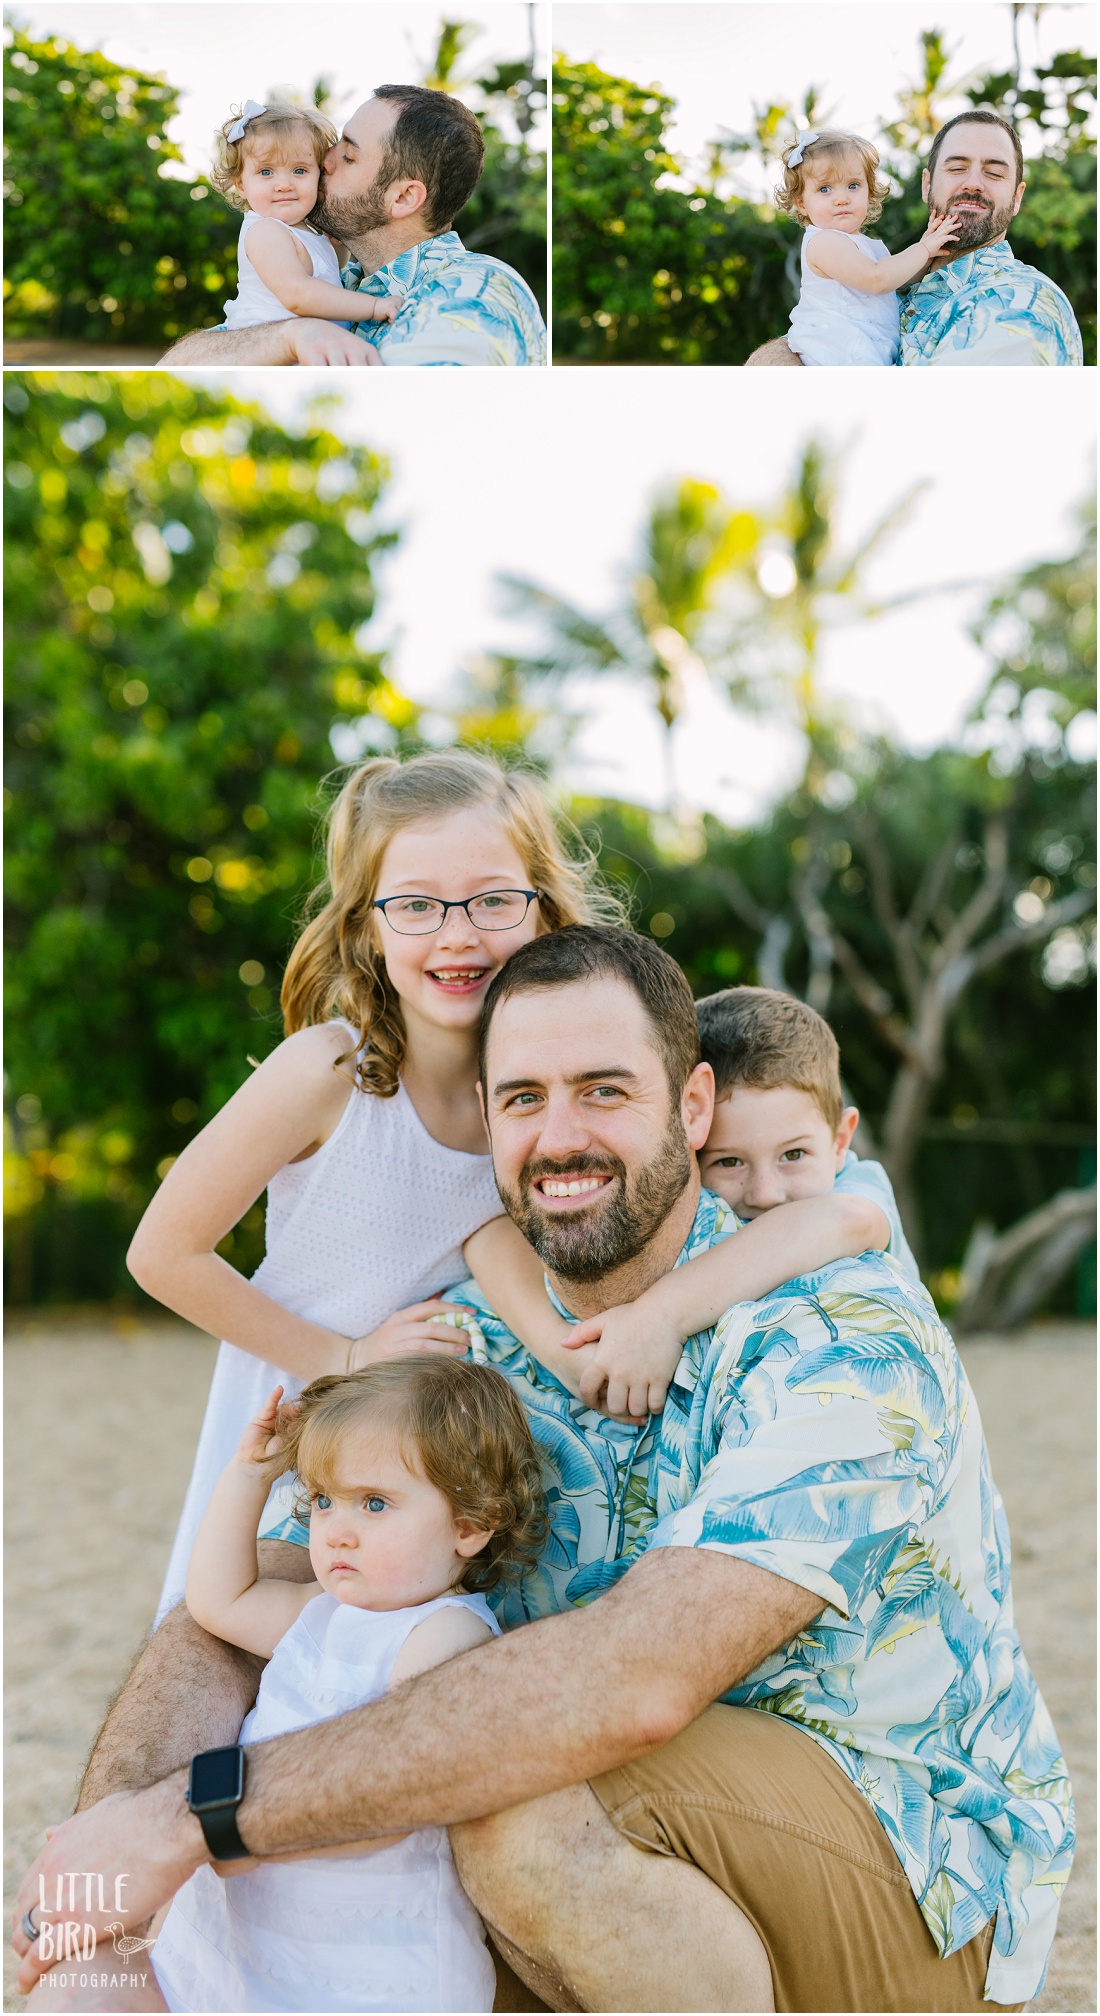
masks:
[[(355, 1046), (355, 1030), (340, 1028)], [(252, 1280), (296, 1316), (365, 1337), (395, 1308), (463, 1280), (463, 1242), (502, 1210), (492, 1155), (435, 1141), (403, 1085), (393, 1099), (357, 1089), (324, 1147), (272, 1175), (266, 1254)], [(276, 1385), (292, 1399), (304, 1381), (222, 1345), (157, 1623), (183, 1601), (210, 1494)]]

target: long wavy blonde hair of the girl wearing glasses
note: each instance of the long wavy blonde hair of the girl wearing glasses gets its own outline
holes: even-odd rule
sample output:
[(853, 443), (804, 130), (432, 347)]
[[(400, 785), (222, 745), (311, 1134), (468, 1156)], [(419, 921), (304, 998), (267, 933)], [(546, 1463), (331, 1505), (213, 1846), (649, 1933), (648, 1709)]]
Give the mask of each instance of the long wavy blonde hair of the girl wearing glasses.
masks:
[[(504, 770), (471, 750), (407, 762), (373, 756), (361, 764), (328, 812), (328, 873), (308, 899), (306, 915), (316, 915), (286, 964), (282, 1022), (288, 1036), (332, 1016), (351, 1022), (357, 1050), (363, 1050), (359, 1083), (379, 1099), (393, 1099), (405, 1062), (405, 1018), (371, 907), (383, 855), (401, 827), (445, 818), (469, 804), (496, 812), (516, 847), (530, 887), (540, 891), (540, 931), (627, 921), (623, 905), (598, 879), (592, 851), (554, 818), (542, 786), (526, 770)], [(568, 833), (568, 849), (560, 829)], [(336, 1066), (353, 1054), (336, 1058)]]

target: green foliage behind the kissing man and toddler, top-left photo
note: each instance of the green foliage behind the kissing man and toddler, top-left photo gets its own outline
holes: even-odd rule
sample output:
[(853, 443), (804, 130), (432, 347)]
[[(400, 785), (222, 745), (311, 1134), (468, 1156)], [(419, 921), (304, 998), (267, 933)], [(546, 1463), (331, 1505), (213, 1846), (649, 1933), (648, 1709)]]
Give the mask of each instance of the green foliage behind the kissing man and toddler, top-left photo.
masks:
[[(546, 304), (546, 103), (534, 48), (461, 71), (473, 28), (439, 24), (425, 83), (473, 107), (486, 173), (465, 240), (516, 266)], [(326, 105), (318, 79), (312, 101)], [(222, 321), (240, 218), (167, 139), (179, 93), (62, 36), (4, 30), (4, 327), (10, 339), (169, 345)]]

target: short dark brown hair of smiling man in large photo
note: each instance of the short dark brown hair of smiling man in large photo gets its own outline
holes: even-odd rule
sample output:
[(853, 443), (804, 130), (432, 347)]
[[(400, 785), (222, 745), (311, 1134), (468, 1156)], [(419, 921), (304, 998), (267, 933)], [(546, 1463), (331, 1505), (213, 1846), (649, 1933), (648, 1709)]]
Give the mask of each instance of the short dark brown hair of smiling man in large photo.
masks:
[(486, 1087), (486, 1050), (490, 1024), (502, 1002), (512, 994), (534, 994), (538, 988), (568, 988), (578, 980), (625, 980), (639, 996), (653, 1040), (665, 1062), (669, 1093), (679, 1101), (687, 1079), (699, 1062), (699, 1026), (691, 988), (677, 962), (639, 931), (618, 931), (612, 925), (566, 923), (562, 931), (546, 931), (520, 946), (494, 976), (482, 1010), (477, 1070)]

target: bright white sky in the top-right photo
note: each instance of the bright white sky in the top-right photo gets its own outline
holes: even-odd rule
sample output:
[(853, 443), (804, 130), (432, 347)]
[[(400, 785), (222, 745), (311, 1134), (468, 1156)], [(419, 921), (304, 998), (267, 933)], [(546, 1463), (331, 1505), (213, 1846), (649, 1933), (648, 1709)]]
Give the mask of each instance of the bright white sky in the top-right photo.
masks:
[[(1048, 62), (1060, 48), (1094, 50), (1086, 6), (1021, 8), (1023, 62)], [(955, 4), (929, 8), (909, 0), (625, 0), (596, 6), (556, 0), (554, 46), (574, 62), (598, 62), (616, 77), (661, 85), (677, 101), (673, 153), (699, 155), (723, 129), (751, 129), (753, 105), (802, 101), (816, 85), (838, 125), (874, 137), (897, 109), (897, 91), (921, 75), (921, 30), (943, 28), (953, 52), (947, 73), (961, 85), (971, 73), (1011, 69), (1011, 8)], [(963, 111), (949, 101), (947, 111)], [(739, 169), (739, 185), (762, 194), (760, 163)]]

